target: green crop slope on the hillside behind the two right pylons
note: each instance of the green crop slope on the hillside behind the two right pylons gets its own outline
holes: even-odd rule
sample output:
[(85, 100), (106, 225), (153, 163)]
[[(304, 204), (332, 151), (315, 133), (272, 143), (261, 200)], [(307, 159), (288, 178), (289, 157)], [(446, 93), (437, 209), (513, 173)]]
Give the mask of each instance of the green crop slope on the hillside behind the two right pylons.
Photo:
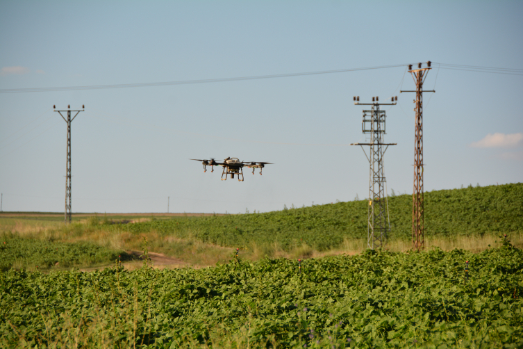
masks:
[[(424, 204), (426, 236), (523, 232), (523, 184), (431, 191), (425, 193)], [(283, 250), (303, 244), (328, 250), (346, 238), (366, 236), (367, 207), (368, 202), (360, 200), (268, 213), (152, 220), (117, 229), (233, 247), (277, 243)], [(389, 209), (390, 238), (410, 238), (412, 195), (390, 197)]]

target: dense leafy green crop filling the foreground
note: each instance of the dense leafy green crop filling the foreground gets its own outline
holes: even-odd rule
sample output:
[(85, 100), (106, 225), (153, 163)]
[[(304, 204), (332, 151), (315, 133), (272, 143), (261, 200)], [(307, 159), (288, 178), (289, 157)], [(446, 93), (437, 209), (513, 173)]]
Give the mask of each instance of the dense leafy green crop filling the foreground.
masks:
[[(465, 261), (470, 277), (465, 278)], [(2, 348), (522, 348), (523, 252), (0, 272)]]

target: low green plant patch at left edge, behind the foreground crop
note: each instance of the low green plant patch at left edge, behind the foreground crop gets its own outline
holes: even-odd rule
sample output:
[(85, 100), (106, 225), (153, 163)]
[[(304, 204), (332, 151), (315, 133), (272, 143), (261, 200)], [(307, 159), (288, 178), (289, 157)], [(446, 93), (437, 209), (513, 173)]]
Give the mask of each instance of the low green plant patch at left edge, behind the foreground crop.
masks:
[(0, 270), (92, 266), (115, 261), (119, 255), (124, 260), (130, 258), (124, 251), (111, 250), (94, 243), (61, 243), (21, 238), (14, 234), (0, 235), (0, 244)]

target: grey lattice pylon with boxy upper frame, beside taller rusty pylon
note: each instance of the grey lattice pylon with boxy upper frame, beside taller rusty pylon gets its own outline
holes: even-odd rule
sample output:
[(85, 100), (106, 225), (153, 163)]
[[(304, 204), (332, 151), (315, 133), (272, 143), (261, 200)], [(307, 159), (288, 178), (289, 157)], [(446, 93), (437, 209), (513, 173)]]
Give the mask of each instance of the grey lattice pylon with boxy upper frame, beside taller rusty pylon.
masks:
[[(390, 232), (390, 218), (388, 214), (388, 197), (385, 176), (383, 175), (383, 155), (389, 145), (397, 143), (383, 143), (385, 135), (385, 111), (380, 106), (395, 105), (398, 97), (392, 97), (392, 103), (379, 103), (379, 97), (372, 97), (372, 103), (360, 103), (360, 97), (354, 97), (355, 105), (371, 106), (370, 110), (363, 111), (361, 129), (370, 136), (369, 143), (351, 143), (360, 145), (367, 156), (363, 145), (370, 146), (367, 160), (369, 170), (369, 206), (367, 209), (367, 247), (383, 248), (387, 242), (387, 232)], [(383, 149), (385, 146), (385, 149)]]

